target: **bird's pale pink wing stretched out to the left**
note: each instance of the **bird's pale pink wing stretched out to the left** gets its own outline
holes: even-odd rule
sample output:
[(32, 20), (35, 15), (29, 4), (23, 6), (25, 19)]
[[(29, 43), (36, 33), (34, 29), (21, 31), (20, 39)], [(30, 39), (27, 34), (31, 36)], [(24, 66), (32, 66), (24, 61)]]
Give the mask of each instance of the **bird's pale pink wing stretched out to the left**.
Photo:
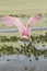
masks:
[(17, 26), (19, 31), (20, 31), (20, 34), (22, 36), (22, 33), (24, 32), (25, 29), (25, 26), (22, 24), (22, 22), (20, 21), (19, 17), (13, 17), (13, 16), (3, 16), (1, 17), (1, 20), (4, 22), (5, 25), (8, 26)]

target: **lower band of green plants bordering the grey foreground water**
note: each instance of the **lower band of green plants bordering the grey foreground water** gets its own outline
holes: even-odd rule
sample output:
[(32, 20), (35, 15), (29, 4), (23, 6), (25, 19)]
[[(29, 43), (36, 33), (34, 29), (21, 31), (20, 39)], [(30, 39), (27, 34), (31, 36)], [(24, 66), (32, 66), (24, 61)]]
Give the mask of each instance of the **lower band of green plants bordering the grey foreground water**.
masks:
[[(30, 45), (30, 44), (28, 44)], [(36, 49), (34, 46), (33, 48), (30, 48), (28, 45), (21, 45), (20, 48), (17, 47), (13, 47), (11, 46), (7, 46), (3, 45), (0, 48), (0, 57), (3, 55), (25, 55), (27, 57), (31, 57), (32, 54), (34, 55), (34, 57), (37, 59), (37, 57), (39, 57), (40, 55), (44, 55), (45, 57), (47, 57), (47, 49), (46, 50), (40, 50), (40, 49)]]

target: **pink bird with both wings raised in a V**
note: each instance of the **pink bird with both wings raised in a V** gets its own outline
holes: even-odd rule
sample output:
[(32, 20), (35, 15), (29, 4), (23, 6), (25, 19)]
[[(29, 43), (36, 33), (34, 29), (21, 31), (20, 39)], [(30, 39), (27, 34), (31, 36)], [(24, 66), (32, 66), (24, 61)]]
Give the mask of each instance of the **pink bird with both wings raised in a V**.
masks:
[(15, 25), (21, 34), (22, 38), (30, 39), (31, 38), (31, 25), (37, 23), (42, 17), (42, 14), (36, 14), (32, 17), (30, 17), (26, 27), (22, 24), (19, 17), (13, 17), (13, 16), (3, 16), (2, 21), (5, 23), (8, 26), (13, 26)]

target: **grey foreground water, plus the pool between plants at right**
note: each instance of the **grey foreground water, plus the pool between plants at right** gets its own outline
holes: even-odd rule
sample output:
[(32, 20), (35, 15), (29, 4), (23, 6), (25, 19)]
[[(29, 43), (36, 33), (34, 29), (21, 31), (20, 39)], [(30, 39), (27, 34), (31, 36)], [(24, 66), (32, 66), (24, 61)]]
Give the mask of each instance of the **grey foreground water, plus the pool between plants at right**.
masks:
[[(35, 47), (40, 50), (47, 49), (47, 45), (42, 44), (36, 44)], [(47, 71), (47, 57), (32, 55), (28, 58), (25, 55), (4, 55), (0, 57), (0, 71)]]

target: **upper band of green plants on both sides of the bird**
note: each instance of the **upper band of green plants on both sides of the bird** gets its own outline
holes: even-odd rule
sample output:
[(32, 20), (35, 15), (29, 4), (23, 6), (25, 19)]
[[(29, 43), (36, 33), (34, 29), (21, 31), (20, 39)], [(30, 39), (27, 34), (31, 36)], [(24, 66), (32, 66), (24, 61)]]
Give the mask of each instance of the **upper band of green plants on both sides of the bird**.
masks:
[[(31, 39), (32, 39), (32, 43), (47, 43), (47, 33), (45, 35), (39, 35), (39, 36), (32, 36), (31, 35)], [(27, 39), (25, 38), (21, 38), (21, 37), (17, 37), (17, 36), (12, 36), (12, 37), (7, 37), (7, 36), (0, 36), (0, 42), (28, 42)]]

